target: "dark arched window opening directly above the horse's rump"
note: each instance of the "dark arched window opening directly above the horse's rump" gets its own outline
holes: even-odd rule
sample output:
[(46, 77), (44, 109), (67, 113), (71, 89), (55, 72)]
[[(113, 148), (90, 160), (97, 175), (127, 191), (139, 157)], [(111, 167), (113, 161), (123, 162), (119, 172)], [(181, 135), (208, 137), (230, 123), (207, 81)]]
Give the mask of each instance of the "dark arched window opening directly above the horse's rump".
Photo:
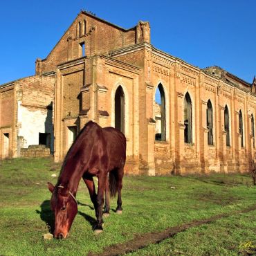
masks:
[(125, 134), (125, 93), (118, 86), (115, 94), (115, 127)]

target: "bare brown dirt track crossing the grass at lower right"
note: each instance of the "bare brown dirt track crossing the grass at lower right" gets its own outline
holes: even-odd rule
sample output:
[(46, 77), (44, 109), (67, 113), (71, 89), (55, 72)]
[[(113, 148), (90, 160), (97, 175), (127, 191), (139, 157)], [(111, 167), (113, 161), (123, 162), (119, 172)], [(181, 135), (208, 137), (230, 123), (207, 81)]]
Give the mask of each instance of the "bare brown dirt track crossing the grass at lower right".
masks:
[(127, 241), (126, 243), (115, 244), (113, 246), (104, 248), (104, 253), (101, 253), (101, 254), (89, 253), (89, 256), (95, 256), (95, 255), (101, 255), (101, 256), (110, 256), (111, 255), (111, 256), (113, 256), (113, 255), (123, 255), (125, 253), (132, 253), (141, 248), (145, 248), (149, 244), (158, 244), (167, 238), (174, 237), (174, 235), (178, 234), (179, 232), (188, 230), (188, 228), (194, 228), (196, 226), (200, 226), (203, 224), (212, 223), (213, 221), (217, 221), (218, 219), (221, 219), (221, 218), (230, 217), (233, 214), (241, 214), (241, 213), (246, 213), (246, 212), (250, 212), (253, 210), (256, 210), (256, 205), (253, 205), (244, 210), (230, 212), (227, 214), (218, 214), (218, 215), (215, 215), (208, 219), (200, 219), (200, 220), (191, 221), (191, 222), (185, 223), (181, 226), (167, 228), (166, 230), (164, 230), (162, 232), (152, 232), (152, 233), (147, 233), (147, 234), (143, 234), (143, 235), (136, 235), (134, 237), (134, 239)]

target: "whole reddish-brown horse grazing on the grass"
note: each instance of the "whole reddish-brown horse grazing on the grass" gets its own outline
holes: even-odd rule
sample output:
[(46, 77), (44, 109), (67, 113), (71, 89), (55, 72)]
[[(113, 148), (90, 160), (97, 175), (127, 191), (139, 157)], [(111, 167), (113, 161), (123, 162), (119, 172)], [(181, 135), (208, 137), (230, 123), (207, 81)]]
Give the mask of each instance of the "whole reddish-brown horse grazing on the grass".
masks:
[[(54, 187), (48, 183), (48, 189), (52, 192), (51, 209), (55, 213), (56, 238), (68, 237), (77, 214), (75, 195), (81, 178), (84, 179), (95, 208), (95, 232), (103, 230), (104, 192), (104, 213), (109, 214), (109, 190), (111, 196), (118, 192), (116, 211), (122, 212), (121, 189), (125, 158), (126, 138), (120, 131), (113, 127), (102, 128), (92, 121), (87, 122), (66, 154), (57, 184)], [(97, 194), (93, 176), (98, 177)]]

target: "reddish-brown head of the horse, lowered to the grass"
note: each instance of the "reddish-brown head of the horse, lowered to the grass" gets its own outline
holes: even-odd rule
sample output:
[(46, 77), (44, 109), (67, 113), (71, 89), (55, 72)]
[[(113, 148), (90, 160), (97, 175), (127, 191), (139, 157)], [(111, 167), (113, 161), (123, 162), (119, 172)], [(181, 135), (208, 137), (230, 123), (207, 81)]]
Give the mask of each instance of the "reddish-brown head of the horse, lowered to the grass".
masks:
[(75, 215), (77, 214), (77, 201), (72, 192), (63, 185), (53, 186), (48, 182), (48, 189), (52, 192), (51, 209), (55, 213), (54, 237), (67, 238)]

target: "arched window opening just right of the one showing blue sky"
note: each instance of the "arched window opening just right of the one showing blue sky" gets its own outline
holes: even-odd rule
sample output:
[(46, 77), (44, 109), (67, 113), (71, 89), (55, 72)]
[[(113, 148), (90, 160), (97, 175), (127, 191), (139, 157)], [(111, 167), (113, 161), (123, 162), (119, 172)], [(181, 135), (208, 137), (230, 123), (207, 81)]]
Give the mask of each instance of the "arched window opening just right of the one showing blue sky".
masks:
[(184, 125), (184, 142), (192, 143), (192, 102), (189, 93), (184, 98)]

